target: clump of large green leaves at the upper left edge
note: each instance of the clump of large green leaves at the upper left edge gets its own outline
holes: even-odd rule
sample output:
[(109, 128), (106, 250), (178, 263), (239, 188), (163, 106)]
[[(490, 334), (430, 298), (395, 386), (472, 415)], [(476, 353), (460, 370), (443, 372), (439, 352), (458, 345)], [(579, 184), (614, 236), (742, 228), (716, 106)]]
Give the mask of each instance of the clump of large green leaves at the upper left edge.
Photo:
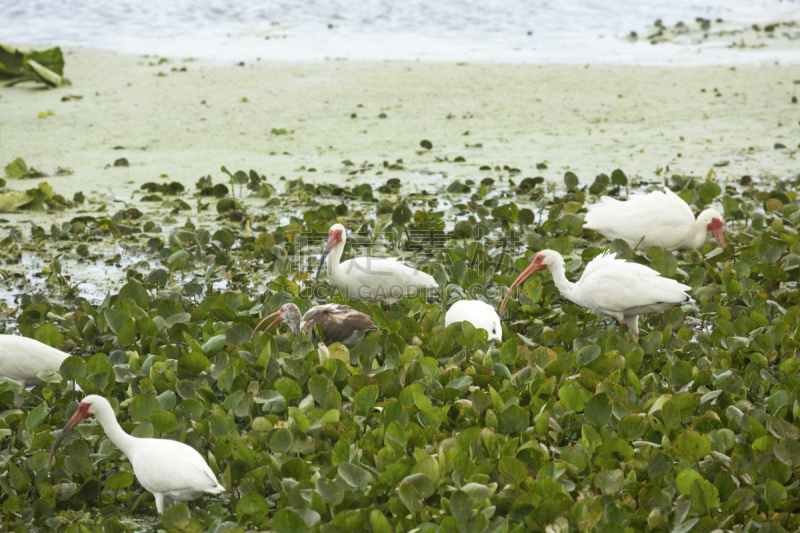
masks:
[(0, 80), (6, 80), (7, 86), (25, 81), (44, 83), (48, 87), (70, 84), (64, 78), (64, 54), (58, 46), (23, 51), (0, 43)]

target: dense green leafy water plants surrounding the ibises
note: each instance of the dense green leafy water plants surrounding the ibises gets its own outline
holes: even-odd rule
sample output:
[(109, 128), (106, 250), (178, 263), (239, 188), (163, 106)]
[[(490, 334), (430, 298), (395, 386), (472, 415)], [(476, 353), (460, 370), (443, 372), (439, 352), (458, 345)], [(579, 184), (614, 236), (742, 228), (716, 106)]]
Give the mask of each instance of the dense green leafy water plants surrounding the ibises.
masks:
[[(144, 199), (162, 206), (160, 218), (109, 206), (11, 231), (4, 262), (51, 259), (39, 290), (6, 311), (21, 334), (73, 356), (22, 400), (0, 383), (6, 530), (800, 528), (798, 182), (673, 176), (697, 209), (723, 208), (728, 246), (641, 254), (584, 231), (581, 212), (597, 195), (661, 183), (615, 171), (587, 187), (567, 173), (554, 186), (481, 170), (492, 177), (410, 195), (397, 179), (376, 189), (296, 180), (277, 193), (237, 172), (231, 188), (248, 199), (210, 178), (194, 199), (153, 183)], [(182, 214), (195, 222), (178, 224)], [(351, 232), (345, 257), (380, 245), (434, 274), (443, 298), (390, 311), (347, 302), (382, 331), (349, 352), (332, 346), (322, 364), (311, 335), (284, 328), (251, 341), (281, 303), (314, 305), (307, 252), (321, 252), (335, 221)], [(103, 242), (142, 259), (90, 302), (65, 274), (81, 277)], [(577, 277), (609, 245), (690, 285), (695, 303), (642, 317), (636, 339), (561, 299), (544, 272), (511, 303), (502, 345), (469, 324), (443, 326), (443, 305), (467, 292), (497, 305), (536, 250), (561, 252)], [(90, 393), (109, 398), (133, 435), (200, 450), (228, 493), (175, 505), (159, 523), (152, 496), (92, 423), (48, 473), (55, 435)]]

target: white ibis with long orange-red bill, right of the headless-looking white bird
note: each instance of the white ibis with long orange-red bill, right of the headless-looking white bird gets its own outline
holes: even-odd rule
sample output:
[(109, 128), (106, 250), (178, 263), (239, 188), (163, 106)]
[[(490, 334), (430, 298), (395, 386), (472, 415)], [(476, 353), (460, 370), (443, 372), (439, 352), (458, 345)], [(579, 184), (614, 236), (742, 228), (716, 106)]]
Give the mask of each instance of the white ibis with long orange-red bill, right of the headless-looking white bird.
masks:
[(606, 252), (592, 259), (576, 283), (564, 275), (564, 258), (553, 250), (542, 250), (533, 256), (528, 268), (511, 284), (500, 314), (503, 313), (511, 293), (537, 270), (549, 269), (553, 283), (567, 300), (592, 312), (616, 318), (628, 324), (631, 333), (639, 336), (639, 315), (658, 313), (692, 299), (684, 291), (691, 287), (638, 263), (616, 258)]

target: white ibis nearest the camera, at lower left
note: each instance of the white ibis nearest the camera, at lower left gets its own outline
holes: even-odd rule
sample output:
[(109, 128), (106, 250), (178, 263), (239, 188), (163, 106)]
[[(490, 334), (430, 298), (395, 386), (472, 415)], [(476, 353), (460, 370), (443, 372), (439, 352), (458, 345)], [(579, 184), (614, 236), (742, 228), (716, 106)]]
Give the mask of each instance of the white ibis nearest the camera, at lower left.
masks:
[(108, 400), (96, 395), (85, 397), (61, 430), (50, 452), (48, 470), (52, 467), (56, 450), (67, 433), (91, 416), (97, 418), (106, 436), (128, 457), (139, 484), (153, 493), (159, 514), (164, 513), (166, 496), (174, 501), (188, 502), (196, 500), (204, 492), (225, 492), (225, 487), (217, 482), (214, 472), (197, 450), (174, 440), (139, 439), (128, 435), (117, 422)]

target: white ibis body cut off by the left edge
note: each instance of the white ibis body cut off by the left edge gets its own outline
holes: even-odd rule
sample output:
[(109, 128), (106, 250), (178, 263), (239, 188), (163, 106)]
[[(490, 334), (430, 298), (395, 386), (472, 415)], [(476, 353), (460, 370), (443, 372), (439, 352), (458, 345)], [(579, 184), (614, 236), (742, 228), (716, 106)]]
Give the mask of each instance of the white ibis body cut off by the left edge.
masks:
[(0, 335), (0, 377), (13, 379), (22, 388), (39, 383), (42, 370), (58, 372), (69, 354), (42, 342), (17, 335)]

